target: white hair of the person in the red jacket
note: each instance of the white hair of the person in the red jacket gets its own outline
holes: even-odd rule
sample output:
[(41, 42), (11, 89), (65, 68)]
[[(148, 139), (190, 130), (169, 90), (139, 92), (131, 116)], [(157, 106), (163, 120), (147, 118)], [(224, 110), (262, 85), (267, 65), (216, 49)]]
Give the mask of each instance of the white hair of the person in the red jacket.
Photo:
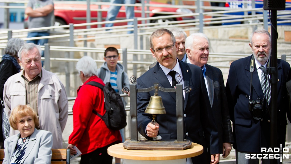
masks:
[(82, 71), (85, 77), (97, 75), (97, 64), (90, 56), (82, 57), (76, 64), (76, 70), (79, 74)]

